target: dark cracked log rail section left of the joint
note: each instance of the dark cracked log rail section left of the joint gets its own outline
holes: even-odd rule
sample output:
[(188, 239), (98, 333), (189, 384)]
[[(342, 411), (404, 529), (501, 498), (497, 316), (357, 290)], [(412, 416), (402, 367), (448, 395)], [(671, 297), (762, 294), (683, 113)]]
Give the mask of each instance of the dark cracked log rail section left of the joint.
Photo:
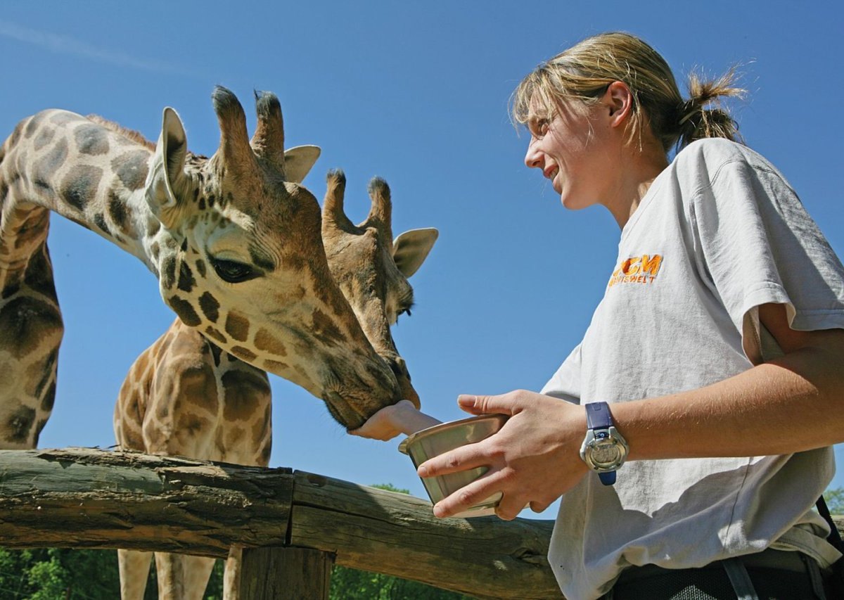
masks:
[(84, 448), (0, 451), (0, 545), (225, 558), (286, 543), (290, 469)]

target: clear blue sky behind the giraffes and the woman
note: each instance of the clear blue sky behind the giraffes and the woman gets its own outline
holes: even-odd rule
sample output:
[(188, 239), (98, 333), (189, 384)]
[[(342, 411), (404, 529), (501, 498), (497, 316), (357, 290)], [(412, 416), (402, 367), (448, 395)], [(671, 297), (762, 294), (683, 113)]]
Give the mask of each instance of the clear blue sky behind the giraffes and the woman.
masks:
[[(326, 171), (344, 169), (347, 211), (360, 221), (367, 181), (382, 176), (397, 233), (440, 230), (411, 280), (413, 316), (394, 337), (426, 412), (457, 419), (458, 393), (541, 387), (579, 341), (614, 268), (619, 230), (609, 213), (565, 211), (523, 166), (527, 138), (507, 116), (519, 79), (605, 30), (650, 41), (681, 82), (693, 68), (718, 75), (741, 65), (744, 138), (782, 170), (844, 256), (839, 5), (4, 3), (0, 130), (59, 107), (155, 139), (169, 105), (189, 147), (212, 154), (214, 85), (240, 96), (250, 127), (252, 90), (273, 90), (288, 145), (322, 146), (305, 181), (317, 197)], [(123, 377), (173, 316), (143, 265), (89, 231), (55, 218), (50, 248), (66, 334), (41, 446), (111, 446)], [(631, 316), (631, 327), (647, 327), (647, 316)], [(349, 437), (316, 398), (272, 381), (273, 466), (425, 496), (398, 440)], [(844, 461), (841, 447), (836, 454)], [(833, 485), (844, 486), (844, 473)]]

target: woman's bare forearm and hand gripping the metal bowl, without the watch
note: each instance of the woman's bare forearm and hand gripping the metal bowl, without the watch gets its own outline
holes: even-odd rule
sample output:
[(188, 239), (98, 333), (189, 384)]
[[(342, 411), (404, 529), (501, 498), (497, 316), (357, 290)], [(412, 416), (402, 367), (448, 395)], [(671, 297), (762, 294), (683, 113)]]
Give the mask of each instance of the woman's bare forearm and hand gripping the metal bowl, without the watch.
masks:
[[(759, 314), (781, 358), (698, 390), (610, 406), (630, 444), (628, 460), (766, 456), (844, 441), (844, 330), (795, 331), (783, 305), (762, 305)], [(487, 440), (419, 466), (422, 477), (490, 466), (484, 478), (439, 502), (436, 516), (498, 491), (501, 518), (514, 518), (528, 502), (543, 511), (588, 473), (579, 453), (582, 407), (524, 391), (461, 396), (458, 403), (473, 414), (512, 416)]]

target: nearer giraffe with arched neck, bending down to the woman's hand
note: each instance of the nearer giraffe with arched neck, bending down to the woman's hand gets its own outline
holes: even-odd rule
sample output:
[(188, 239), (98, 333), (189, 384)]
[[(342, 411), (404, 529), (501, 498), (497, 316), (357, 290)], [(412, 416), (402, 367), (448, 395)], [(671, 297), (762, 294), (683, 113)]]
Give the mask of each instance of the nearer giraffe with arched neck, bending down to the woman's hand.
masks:
[(0, 447), (35, 447), (56, 393), (51, 212), (138, 257), (182, 323), (322, 398), (348, 430), (402, 399), (331, 277), (317, 199), (287, 181), (313, 149), (285, 154), (273, 94), (256, 93), (252, 139), (230, 90), (218, 86), (212, 100), (220, 142), (210, 158), (187, 152), (170, 107), (154, 145), (57, 109), (25, 118), (3, 143)]

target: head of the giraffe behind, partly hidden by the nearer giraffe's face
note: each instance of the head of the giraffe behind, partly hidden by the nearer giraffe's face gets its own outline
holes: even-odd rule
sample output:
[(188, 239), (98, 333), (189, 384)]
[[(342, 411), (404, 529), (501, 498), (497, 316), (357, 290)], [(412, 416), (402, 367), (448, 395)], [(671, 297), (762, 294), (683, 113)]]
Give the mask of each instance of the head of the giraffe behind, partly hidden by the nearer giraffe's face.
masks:
[(398, 354), (390, 326), (399, 315), (410, 315), (414, 290), (408, 278), (425, 261), (437, 230), (405, 231), (393, 240), (390, 188), (378, 177), (370, 181), (370, 212), (361, 224), (354, 225), (344, 213), (345, 187), (342, 172), (328, 173), (322, 243), (331, 273), (351, 302), (366, 337), (396, 375), (402, 397), (419, 408), (419, 395), (410, 385), (408, 368)]

